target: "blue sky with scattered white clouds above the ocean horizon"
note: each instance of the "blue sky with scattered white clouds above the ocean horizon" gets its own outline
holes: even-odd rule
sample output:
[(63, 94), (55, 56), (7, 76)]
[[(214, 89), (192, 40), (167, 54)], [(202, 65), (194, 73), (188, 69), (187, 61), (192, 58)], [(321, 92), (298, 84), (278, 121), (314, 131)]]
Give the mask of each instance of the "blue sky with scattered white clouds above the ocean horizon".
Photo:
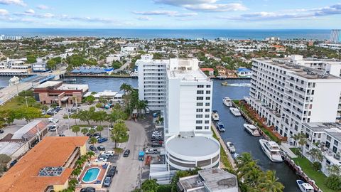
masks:
[(0, 28), (340, 27), (340, 0), (0, 0)]

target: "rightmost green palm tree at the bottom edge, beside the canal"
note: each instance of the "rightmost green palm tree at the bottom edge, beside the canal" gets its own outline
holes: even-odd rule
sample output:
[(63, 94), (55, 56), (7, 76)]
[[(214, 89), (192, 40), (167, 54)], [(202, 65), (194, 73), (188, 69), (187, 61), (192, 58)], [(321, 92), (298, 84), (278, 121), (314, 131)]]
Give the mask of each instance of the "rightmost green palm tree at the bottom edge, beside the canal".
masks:
[(278, 182), (275, 171), (266, 171), (264, 179), (261, 180), (258, 187), (264, 192), (282, 192), (284, 189), (283, 184)]

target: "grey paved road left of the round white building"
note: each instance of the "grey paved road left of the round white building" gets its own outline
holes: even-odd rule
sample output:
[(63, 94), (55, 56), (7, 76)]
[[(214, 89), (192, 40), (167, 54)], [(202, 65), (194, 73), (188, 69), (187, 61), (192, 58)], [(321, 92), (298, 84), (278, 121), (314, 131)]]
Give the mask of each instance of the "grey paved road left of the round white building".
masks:
[(109, 191), (132, 191), (136, 186), (139, 186), (139, 178), (141, 176), (141, 169), (144, 164), (139, 161), (139, 151), (144, 149), (146, 145), (146, 131), (145, 125), (139, 122), (126, 121), (126, 126), (129, 128), (129, 141), (122, 144), (126, 149), (130, 149), (129, 157), (123, 157), (118, 161), (118, 174), (112, 179), (112, 185)]

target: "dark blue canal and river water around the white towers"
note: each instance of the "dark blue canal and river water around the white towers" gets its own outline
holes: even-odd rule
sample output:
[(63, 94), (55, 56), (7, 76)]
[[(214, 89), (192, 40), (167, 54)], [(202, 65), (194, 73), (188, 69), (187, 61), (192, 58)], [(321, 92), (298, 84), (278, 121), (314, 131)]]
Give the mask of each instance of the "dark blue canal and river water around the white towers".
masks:
[[(0, 87), (8, 85), (9, 77), (0, 77)], [(128, 83), (133, 87), (137, 87), (137, 79), (131, 78), (76, 78), (76, 83), (88, 84), (90, 91), (113, 90), (118, 91), (122, 83)], [(243, 117), (234, 117), (229, 108), (222, 104), (222, 98), (230, 97), (233, 100), (241, 100), (244, 96), (249, 95), (249, 87), (222, 86), (223, 80), (214, 80), (213, 88), (213, 104), (212, 109), (218, 110), (220, 121), (224, 123), (226, 131), (223, 132), (222, 138), (224, 142), (232, 142), (237, 149), (238, 154), (249, 152), (258, 160), (259, 166), (264, 170), (276, 171), (279, 181), (285, 186), (284, 192), (298, 192), (296, 186), (296, 174), (289, 169), (284, 163), (273, 163), (261, 151), (259, 138), (251, 137), (244, 131)], [(229, 83), (249, 83), (249, 80), (227, 80)]]

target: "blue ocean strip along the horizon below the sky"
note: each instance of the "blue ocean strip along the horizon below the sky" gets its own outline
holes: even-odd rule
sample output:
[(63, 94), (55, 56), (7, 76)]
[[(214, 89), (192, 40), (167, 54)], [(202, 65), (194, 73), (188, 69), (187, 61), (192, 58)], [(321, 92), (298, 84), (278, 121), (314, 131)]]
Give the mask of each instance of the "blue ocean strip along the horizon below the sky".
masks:
[(11, 36), (63, 36), (63, 37), (116, 37), (116, 38), (232, 38), (232, 39), (264, 39), (280, 37), (282, 39), (305, 38), (326, 40), (330, 30), (318, 29), (87, 29), (87, 28), (0, 28), (0, 34)]

